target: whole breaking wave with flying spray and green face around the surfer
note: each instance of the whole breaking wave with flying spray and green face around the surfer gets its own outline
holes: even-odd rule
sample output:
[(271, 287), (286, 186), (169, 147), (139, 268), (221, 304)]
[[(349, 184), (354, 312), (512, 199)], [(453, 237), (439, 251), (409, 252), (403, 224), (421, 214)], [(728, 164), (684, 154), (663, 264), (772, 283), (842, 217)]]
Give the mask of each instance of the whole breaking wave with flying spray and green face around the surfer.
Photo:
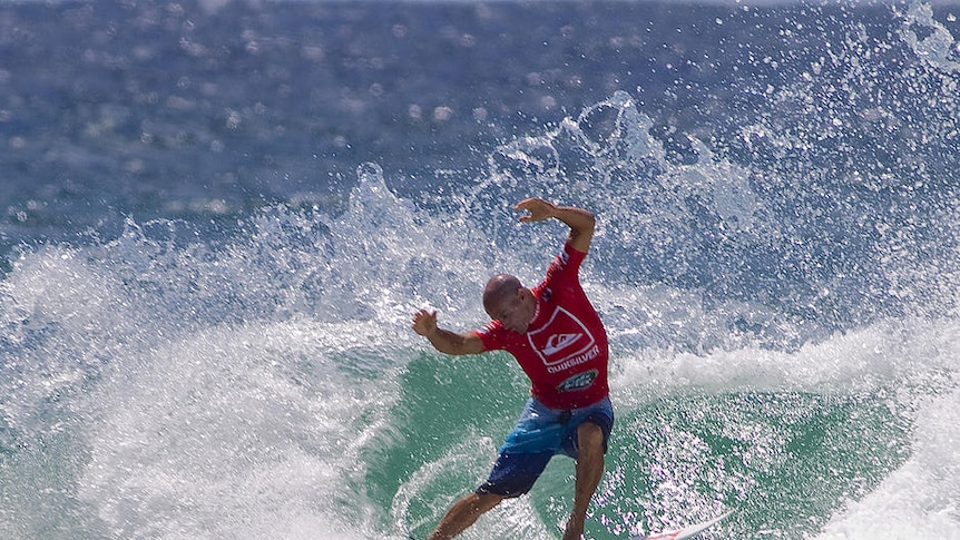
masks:
[[(956, 40), (924, 4), (895, 16), (741, 63), (768, 77), (684, 159), (614, 91), (440, 202), (366, 164), (339, 214), (129, 218), (21, 249), (0, 281), (0, 534), (428, 529), (526, 383), (507, 357), (433, 355), (409, 317), (476, 327), (488, 275), (538, 279), (565, 230), (516, 223), (531, 195), (600, 218), (584, 282), (620, 429), (599, 536), (727, 504), (726, 538), (949, 534)], [(569, 481), (551, 470), (473, 534), (549, 537)]]

